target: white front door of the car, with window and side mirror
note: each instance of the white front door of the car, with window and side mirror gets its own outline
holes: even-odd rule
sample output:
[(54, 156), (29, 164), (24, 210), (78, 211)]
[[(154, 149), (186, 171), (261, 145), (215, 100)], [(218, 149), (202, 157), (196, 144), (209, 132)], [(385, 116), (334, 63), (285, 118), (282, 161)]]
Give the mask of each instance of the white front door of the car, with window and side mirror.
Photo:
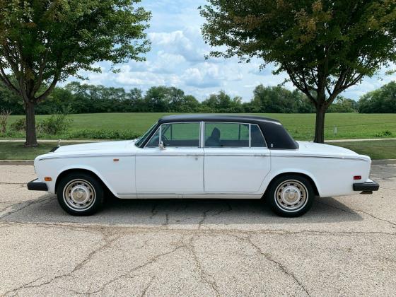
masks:
[(201, 122), (169, 123), (158, 128), (136, 155), (138, 197), (146, 194), (182, 197), (183, 193), (204, 192), (200, 133)]

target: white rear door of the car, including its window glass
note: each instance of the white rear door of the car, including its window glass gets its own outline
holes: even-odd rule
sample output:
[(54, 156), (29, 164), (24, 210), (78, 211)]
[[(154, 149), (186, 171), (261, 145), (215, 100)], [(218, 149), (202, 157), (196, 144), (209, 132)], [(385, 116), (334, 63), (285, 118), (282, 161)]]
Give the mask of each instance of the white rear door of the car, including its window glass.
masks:
[(270, 166), (257, 124), (204, 123), (204, 192), (257, 192)]

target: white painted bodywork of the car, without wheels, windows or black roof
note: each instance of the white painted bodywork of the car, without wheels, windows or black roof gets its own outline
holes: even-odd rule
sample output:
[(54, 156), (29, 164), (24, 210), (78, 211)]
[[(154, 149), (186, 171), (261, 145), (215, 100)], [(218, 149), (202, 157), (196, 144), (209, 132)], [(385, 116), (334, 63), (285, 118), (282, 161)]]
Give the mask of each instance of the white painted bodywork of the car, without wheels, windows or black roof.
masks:
[[(229, 116), (223, 121), (228, 122), (229, 118), (233, 119), (230, 122), (249, 120)], [(361, 190), (354, 191), (354, 183), (372, 182), (371, 159), (339, 146), (297, 141), (295, 149), (207, 148), (203, 135), (205, 119), (199, 121), (200, 141), (195, 148), (138, 147), (136, 141), (60, 146), (35, 158), (38, 178), (32, 183), (45, 183), (47, 192), (54, 194), (62, 175), (86, 170), (121, 199), (260, 199), (269, 183), (285, 173), (308, 177), (320, 197), (357, 194)]]

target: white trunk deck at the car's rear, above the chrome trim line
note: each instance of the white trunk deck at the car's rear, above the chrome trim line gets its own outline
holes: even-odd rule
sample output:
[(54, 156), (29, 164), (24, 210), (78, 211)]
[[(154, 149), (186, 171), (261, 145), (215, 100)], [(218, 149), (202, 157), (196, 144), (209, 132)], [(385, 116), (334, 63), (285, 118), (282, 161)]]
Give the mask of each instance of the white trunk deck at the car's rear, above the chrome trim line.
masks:
[(329, 144), (317, 144), (315, 142), (297, 141), (298, 152), (307, 156), (327, 156), (327, 157), (341, 157), (341, 158), (361, 158), (370, 161), (370, 157), (359, 155), (348, 148), (341, 146), (331, 146)]

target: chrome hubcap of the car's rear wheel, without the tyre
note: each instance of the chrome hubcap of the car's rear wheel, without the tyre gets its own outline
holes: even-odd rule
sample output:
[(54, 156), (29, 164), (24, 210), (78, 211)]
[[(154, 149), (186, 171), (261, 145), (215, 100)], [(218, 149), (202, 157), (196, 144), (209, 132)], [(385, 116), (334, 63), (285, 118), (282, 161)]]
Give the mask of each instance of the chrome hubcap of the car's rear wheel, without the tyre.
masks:
[(281, 209), (298, 211), (308, 202), (308, 190), (298, 180), (286, 180), (276, 187), (274, 198)]

